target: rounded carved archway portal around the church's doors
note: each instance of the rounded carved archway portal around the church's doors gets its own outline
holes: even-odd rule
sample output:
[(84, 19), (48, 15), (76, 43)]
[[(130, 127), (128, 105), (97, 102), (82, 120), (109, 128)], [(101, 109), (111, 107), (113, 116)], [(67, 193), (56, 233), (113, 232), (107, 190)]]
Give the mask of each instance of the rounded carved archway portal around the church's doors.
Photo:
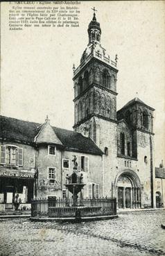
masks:
[(119, 208), (141, 207), (141, 182), (137, 173), (130, 169), (120, 171), (115, 179), (116, 199)]

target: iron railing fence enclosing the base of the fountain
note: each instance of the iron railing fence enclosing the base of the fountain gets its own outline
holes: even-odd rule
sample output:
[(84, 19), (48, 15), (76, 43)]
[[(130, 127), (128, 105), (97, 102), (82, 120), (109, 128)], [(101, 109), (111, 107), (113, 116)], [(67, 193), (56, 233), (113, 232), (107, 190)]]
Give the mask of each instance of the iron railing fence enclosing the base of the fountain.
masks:
[(39, 218), (67, 218), (81, 216), (116, 215), (116, 198), (83, 198), (78, 206), (72, 199), (35, 199), (31, 203), (31, 216)]

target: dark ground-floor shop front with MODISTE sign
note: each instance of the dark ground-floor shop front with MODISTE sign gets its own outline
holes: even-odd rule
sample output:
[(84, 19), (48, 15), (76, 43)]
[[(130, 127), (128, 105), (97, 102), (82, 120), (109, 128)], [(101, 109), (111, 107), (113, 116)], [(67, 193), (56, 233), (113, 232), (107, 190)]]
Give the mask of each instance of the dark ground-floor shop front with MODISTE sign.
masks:
[(31, 208), (34, 194), (35, 171), (0, 171), (0, 211)]

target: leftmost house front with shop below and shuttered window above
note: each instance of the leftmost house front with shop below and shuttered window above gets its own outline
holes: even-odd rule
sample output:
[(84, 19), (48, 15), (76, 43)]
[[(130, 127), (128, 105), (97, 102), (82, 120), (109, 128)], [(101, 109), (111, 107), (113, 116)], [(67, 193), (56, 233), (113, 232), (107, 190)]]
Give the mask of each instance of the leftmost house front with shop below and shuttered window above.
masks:
[(21, 199), (19, 209), (31, 209), (35, 182), (35, 148), (11, 140), (1, 141), (0, 148), (0, 211), (13, 209), (16, 194)]

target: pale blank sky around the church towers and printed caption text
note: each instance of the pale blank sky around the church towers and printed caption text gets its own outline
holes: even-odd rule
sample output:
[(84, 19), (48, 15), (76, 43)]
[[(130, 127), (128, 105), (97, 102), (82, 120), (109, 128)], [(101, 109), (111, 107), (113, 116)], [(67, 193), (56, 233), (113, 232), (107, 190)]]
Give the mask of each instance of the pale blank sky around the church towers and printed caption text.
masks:
[(155, 108), (155, 164), (165, 164), (165, 2), (82, 1), (78, 28), (8, 30), (1, 6), (1, 114), (72, 130), (73, 63), (88, 43), (95, 6), (101, 45), (118, 54), (117, 110), (137, 96)]

